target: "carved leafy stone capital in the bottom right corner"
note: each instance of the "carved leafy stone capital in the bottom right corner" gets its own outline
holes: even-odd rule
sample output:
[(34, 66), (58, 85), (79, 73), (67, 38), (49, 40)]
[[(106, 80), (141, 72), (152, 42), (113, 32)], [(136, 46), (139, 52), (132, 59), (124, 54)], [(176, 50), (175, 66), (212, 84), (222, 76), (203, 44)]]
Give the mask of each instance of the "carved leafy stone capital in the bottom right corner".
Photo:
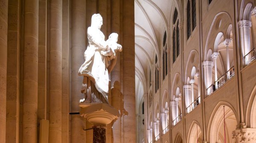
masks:
[(244, 128), (233, 131), (233, 137), (237, 143), (255, 143), (256, 142), (256, 129)]

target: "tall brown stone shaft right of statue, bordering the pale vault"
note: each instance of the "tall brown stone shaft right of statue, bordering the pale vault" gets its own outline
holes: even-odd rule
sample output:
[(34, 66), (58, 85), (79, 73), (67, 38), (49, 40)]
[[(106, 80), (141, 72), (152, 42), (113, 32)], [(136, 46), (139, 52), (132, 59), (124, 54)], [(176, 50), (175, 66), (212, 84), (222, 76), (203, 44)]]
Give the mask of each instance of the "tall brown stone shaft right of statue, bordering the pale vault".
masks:
[(124, 143), (136, 142), (134, 0), (122, 1)]

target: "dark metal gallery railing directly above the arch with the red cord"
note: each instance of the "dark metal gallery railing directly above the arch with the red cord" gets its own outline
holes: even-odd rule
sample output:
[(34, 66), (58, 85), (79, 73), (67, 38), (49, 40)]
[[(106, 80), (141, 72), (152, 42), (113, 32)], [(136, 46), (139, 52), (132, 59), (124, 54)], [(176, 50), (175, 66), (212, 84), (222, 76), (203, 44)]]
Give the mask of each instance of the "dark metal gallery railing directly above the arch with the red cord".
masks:
[(227, 80), (231, 79), (233, 76), (235, 76), (235, 68), (234, 66), (230, 68), (226, 73), (224, 73), (223, 76), (221, 76), (217, 81), (215, 81), (212, 85), (210, 85), (207, 88), (207, 94), (211, 95), (213, 92), (215, 92), (219, 87), (223, 86), (223, 84), (226, 83)]

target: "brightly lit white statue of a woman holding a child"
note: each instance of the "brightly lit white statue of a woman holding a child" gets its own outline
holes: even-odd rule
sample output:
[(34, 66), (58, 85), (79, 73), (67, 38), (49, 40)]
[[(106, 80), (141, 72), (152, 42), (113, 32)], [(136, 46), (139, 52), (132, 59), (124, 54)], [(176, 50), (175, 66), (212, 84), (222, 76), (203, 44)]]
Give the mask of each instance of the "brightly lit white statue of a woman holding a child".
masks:
[(122, 51), (122, 46), (116, 43), (118, 34), (112, 33), (105, 41), (101, 26), (101, 15), (93, 14), (87, 29), (89, 45), (84, 52), (85, 61), (79, 69), (79, 76), (84, 76), (81, 88), (84, 99), (80, 100), (84, 103), (108, 104), (108, 74), (116, 63), (116, 52)]

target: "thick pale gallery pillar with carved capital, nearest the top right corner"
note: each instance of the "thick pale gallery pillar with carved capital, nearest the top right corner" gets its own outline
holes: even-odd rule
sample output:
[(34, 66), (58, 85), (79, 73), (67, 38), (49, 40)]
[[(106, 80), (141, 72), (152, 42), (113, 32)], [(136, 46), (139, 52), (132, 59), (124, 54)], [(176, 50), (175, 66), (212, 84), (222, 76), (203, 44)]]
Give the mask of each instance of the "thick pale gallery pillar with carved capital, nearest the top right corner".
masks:
[[(251, 26), (252, 26), (252, 23), (248, 20), (240, 20), (238, 22), (243, 61), (244, 61), (244, 56), (247, 53), (249, 53), (251, 50), (251, 37), (250, 37), (251, 36), (251, 29), (250, 29)], [(246, 64), (246, 61), (243, 63)]]

